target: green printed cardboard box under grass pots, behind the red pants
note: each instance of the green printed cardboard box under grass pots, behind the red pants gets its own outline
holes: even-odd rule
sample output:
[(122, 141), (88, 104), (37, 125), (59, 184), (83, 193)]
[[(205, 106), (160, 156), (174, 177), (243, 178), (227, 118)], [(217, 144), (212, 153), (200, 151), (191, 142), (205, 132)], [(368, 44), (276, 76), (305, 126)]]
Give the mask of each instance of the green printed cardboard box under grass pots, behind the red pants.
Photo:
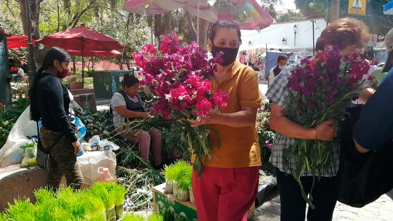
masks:
[[(164, 193), (165, 183), (153, 187), (153, 209), (154, 212), (162, 214), (165, 209), (176, 214), (176, 217), (183, 216), (187, 220), (198, 221), (195, 204), (177, 199), (170, 193)], [(247, 219), (255, 215), (255, 204), (248, 210)]]

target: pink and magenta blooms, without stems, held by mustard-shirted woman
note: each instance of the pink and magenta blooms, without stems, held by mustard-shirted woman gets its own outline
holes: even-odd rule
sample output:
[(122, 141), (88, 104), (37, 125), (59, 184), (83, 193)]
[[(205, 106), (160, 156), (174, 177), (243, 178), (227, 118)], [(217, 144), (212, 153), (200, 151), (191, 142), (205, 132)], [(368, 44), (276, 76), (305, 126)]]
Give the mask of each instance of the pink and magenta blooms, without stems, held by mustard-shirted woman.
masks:
[(195, 42), (178, 46), (176, 33), (162, 37), (160, 42), (160, 51), (144, 45), (141, 53), (132, 54), (142, 68), (138, 72), (143, 76), (140, 83), (148, 85), (156, 96), (151, 112), (165, 119), (174, 117), (173, 110), (189, 112), (202, 120), (209, 118), (209, 111), (225, 108), (228, 94), (213, 92), (209, 82), (216, 68), (214, 63), (220, 58), (208, 60), (206, 51)]

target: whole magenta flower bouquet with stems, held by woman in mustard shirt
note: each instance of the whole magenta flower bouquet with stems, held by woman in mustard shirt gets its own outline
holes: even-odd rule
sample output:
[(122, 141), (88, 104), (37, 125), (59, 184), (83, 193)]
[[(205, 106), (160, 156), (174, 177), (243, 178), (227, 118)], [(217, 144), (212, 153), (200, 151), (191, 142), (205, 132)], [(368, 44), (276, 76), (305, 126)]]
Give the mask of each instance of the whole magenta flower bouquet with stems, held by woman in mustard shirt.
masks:
[(182, 136), (191, 153), (195, 155), (194, 170), (198, 176), (203, 171), (202, 158), (214, 153), (206, 125), (191, 127), (187, 120), (198, 122), (209, 119), (211, 112), (220, 112), (227, 106), (229, 96), (223, 91), (213, 91), (210, 80), (217, 70), (221, 55), (208, 59), (207, 52), (195, 42), (179, 46), (174, 33), (162, 36), (160, 50), (153, 45), (144, 45), (140, 53), (133, 53), (138, 72), (143, 79), (140, 83), (152, 91), (151, 113), (164, 119), (180, 120), (173, 127), (172, 136)]

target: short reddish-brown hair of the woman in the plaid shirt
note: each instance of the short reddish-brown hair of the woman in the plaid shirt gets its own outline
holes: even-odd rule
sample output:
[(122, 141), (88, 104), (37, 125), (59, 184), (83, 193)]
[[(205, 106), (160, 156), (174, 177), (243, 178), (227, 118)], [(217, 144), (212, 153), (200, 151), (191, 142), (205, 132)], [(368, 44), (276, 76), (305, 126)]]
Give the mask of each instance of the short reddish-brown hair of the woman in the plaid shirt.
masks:
[(341, 18), (322, 31), (315, 50), (323, 51), (326, 44), (338, 45), (340, 49), (351, 45), (363, 49), (369, 42), (370, 35), (370, 30), (364, 22), (354, 18)]

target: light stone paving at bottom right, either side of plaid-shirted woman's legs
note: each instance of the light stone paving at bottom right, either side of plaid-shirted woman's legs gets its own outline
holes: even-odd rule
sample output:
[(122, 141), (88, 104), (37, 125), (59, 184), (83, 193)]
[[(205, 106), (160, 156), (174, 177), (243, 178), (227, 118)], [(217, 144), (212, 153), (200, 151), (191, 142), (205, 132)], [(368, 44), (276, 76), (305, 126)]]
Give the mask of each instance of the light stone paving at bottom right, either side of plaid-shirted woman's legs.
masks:
[[(278, 190), (270, 194), (265, 203), (255, 210), (255, 214), (250, 221), (280, 221)], [(393, 221), (393, 190), (363, 208), (337, 203), (333, 221)]]

